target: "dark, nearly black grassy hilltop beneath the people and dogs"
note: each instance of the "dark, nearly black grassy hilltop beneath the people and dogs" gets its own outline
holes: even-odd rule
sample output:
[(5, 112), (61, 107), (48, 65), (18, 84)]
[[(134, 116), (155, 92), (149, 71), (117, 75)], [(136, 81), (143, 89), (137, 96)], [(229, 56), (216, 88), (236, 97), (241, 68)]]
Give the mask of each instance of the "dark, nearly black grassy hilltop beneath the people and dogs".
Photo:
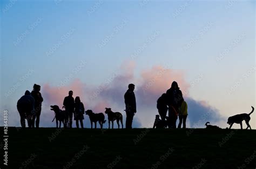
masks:
[(8, 148), (9, 168), (256, 167), (256, 130), (9, 127)]

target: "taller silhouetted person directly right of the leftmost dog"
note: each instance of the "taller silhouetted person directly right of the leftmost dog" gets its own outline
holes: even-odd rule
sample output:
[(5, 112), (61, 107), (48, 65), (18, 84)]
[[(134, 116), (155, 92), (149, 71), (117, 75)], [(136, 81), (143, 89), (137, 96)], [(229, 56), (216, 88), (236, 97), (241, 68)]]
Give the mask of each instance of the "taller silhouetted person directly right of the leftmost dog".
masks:
[(72, 128), (72, 119), (73, 119), (73, 113), (75, 109), (75, 100), (72, 97), (73, 91), (69, 91), (69, 96), (64, 98), (63, 105), (65, 106), (65, 110), (69, 113), (69, 127)]

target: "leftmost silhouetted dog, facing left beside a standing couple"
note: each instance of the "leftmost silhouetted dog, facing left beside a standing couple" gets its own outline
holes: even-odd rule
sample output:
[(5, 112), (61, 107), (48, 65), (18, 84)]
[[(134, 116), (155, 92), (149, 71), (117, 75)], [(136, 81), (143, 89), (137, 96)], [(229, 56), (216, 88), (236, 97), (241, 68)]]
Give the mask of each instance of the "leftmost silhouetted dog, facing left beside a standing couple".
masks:
[(59, 106), (54, 105), (51, 106), (51, 110), (55, 112), (55, 117), (53, 118), (52, 122), (54, 119), (56, 119), (56, 127), (58, 128), (58, 121), (59, 121), (59, 128), (62, 126), (62, 123), (64, 125), (64, 128), (66, 128), (66, 118), (68, 117), (68, 112), (65, 110), (60, 110)]

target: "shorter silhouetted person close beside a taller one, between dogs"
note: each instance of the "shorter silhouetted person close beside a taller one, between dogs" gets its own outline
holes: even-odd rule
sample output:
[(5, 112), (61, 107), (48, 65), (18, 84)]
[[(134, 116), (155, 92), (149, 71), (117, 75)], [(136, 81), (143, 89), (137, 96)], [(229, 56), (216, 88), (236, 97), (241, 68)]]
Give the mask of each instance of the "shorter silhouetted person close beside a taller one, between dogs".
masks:
[(76, 120), (77, 128), (79, 128), (78, 122), (80, 121), (81, 128), (84, 128), (83, 124), (84, 119), (84, 104), (80, 101), (80, 98), (77, 96), (75, 98), (75, 113), (74, 120)]

